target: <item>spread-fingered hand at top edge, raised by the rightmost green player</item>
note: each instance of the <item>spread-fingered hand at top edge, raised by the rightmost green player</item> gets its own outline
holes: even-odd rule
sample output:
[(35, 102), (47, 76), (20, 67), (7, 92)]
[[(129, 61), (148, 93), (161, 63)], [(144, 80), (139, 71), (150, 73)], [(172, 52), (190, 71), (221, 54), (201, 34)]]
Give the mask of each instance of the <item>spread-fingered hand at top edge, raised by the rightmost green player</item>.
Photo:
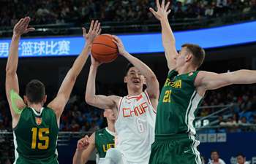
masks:
[(170, 1), (168, 1), (167, 4), (165, 5), (165, 0), (162, 0), (161, 6), (159, 4), (159, 0), (156, 0), (156, 1), (157, 1), (157, 12), (151, 7), (149, 8), (149, 10), (152, 12), (152, 14), (155, 17), (157, 17), (158, 20), (167, 18), (171, 11), (170, 9), (168, 9), (170, 5)]

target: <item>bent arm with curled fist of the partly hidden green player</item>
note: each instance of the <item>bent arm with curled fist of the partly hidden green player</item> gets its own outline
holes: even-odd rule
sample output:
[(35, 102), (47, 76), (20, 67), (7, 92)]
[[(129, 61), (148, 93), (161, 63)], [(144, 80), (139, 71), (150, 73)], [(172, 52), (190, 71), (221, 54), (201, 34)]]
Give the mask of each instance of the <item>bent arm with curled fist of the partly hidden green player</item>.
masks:
[(95, 132), (92, 133), (90, 137), (85, 136), (81, 138), (77, 144), (77, 149), (73, 157), (73, 164), (87, 163), (95, 148)]

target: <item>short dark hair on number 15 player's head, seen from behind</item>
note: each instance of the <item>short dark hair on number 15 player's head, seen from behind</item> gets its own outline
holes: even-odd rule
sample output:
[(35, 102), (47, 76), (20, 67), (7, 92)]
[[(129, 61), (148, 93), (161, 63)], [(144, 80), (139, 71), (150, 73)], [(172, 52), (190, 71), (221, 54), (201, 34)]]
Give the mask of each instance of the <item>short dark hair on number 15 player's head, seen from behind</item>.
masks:
[(37, 104), (42, 102), (45, 96), (45, 85), (42, 84), (38, 79), (32, 79), (26, 85), (26, 97), (29, 102)]

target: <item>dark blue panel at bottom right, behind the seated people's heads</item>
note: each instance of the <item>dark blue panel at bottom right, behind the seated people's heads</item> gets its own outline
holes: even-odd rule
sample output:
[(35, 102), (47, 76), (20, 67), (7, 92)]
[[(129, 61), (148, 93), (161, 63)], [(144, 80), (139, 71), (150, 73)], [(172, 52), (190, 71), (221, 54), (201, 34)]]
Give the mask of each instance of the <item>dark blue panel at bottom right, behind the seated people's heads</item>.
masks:
[(217, 150), (226, 164), (236, 164), (236, 155), (242, 153), (246, 161), (256, 164), (256, 133), (201, 133), (199, 151), (206, 159), (211, 159), (211, 151)]

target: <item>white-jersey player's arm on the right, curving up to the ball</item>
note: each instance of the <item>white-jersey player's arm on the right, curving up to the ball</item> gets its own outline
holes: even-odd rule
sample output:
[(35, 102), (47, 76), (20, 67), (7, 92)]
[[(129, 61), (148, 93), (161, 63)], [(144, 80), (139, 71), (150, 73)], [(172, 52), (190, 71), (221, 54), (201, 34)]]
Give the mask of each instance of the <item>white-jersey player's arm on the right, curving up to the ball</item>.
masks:
[(157, 81), (156, 75), (145, 63), (130, 55), (129, 52), (124, 49), (124, 44), (121, 42), (121, 39), (119, 39), (117, 36), (113, 37), (113, 42), (115, 42), (118, 46), (118, 52), (120, 55), (123, 55), (124, 58), (127, 58), (127, 60), (129, 60), (129, 62), (132, 63), (132, 65), (135, 66), (138, 70), (140, 70), (144, 77), (146, 77), (146, 91), (149, 95), (149, 98), (151, 99), (154, 109), (157, 109), (159, 98), (159, 82)]

